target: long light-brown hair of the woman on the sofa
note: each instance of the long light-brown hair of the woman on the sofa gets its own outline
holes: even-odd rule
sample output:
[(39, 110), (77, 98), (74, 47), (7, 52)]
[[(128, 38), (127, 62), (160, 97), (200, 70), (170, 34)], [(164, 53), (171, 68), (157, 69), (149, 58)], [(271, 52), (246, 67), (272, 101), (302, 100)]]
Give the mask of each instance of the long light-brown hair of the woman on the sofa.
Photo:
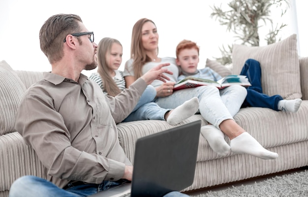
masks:
[(152, 61), (152, 59), (147, 56), (142, 45), (142, 26), (147, 22), (151, 22), (154, 24), (154, 22), (150, 19), (140, 19), (135, 23), (131, 34), (130, 58), (134, 60), (132, 67), (135, 80), (142, 76), (143, 65), (147, 62)]

